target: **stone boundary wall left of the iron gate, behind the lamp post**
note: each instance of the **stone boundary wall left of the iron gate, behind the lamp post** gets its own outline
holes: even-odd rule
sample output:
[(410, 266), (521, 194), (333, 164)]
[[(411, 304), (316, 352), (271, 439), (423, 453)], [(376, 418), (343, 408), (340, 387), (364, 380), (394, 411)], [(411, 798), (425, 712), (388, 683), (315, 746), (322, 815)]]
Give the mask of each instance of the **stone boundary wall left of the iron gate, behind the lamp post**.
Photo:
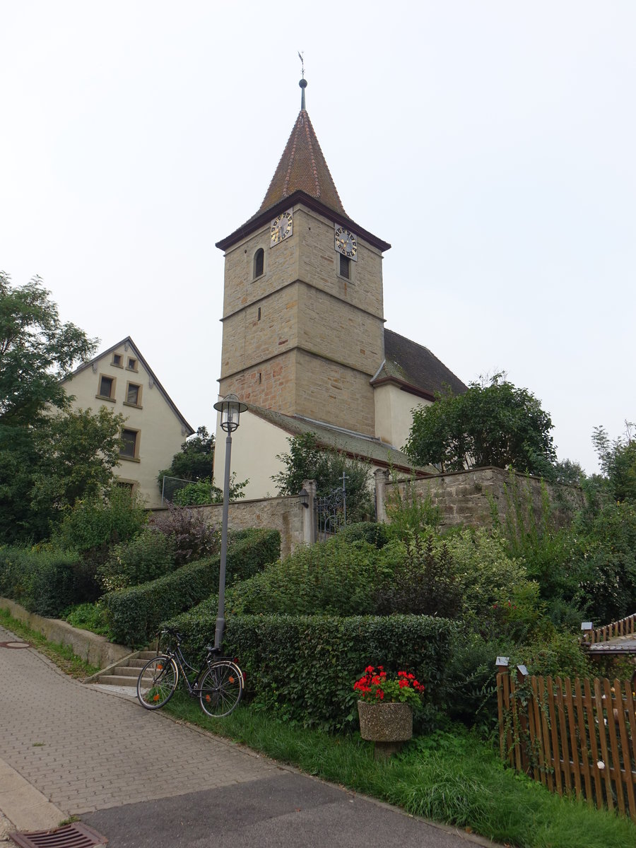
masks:
[[(221, 526), (222, 504), (190, 506), (188, 509), (204, 515), (210, 524), (216, 527)], [(160, 515), (166, 510), (167, 507), (158, 507), (149, 511), (154, 515)], [(227, 526), (231, 530), (245, 530), (247, 527), (268, 527), (278, 530), (281, 534), (281, 556), (288, 556), (304, 542), (304, 513), (306, 512), (298, 496), (237, 500), (229, 506)]]

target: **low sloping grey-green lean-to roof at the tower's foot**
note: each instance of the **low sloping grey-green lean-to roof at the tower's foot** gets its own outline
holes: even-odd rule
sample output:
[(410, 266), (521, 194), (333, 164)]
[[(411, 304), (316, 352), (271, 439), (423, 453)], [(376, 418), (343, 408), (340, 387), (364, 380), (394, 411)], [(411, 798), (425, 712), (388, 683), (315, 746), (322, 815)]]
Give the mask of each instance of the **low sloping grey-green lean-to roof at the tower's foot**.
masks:
[(343, 453), (356, 459), (373, 462), (377, 466), (393, 467), (398, 471), (415, 471), (421, 474), (438, 474), (437, 468), (413, 466), (409, 457), (392, 445), (381, 442), (379, 438), (363, 436), (361, 433), (333, 427), (324, 421), (312, 421), (303, 416), (286, 416), (282, 412), (265, 410), (261, 406), (248, 404), (248, 411), (263, 421), (269, 421), (275, 427), (280, 427), (292, 436), (302, 436), (304, 433), (315, 433), (321, 447), (342, 450)]

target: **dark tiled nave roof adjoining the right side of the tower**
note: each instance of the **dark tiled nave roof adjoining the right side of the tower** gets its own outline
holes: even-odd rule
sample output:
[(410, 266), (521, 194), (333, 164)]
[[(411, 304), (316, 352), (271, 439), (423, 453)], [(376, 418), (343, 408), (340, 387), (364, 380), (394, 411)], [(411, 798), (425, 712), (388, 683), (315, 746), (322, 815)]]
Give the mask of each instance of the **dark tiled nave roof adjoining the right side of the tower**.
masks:
[(389, 380), (415, 388), (431, 399), (446, 387), (455, 394), (466, 392), (468, 388), (428, 348), (385, 329), (384, 362), (371, 383), (376, 385)]

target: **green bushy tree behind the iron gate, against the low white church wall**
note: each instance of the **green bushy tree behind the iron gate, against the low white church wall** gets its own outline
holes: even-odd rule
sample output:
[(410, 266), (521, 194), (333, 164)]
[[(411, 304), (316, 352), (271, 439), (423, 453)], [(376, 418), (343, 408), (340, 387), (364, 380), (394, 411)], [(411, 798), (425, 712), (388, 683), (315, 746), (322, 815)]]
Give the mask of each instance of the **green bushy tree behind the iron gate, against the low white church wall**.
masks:
[(292, 436), (287, 442), (289, 453), (276, 457), (285, 468), (271, 478), (279, 494), (298, 494), (304, 480), (315, 480), (318, 496), (324, 497), (333, 489), (342, 488), (344, 473), (347, 477), (348, 519), (361, 521), (373, 512), (369, 488), (371, 466), (351, 459), (342, 451), (320, 447), (313, 432)]

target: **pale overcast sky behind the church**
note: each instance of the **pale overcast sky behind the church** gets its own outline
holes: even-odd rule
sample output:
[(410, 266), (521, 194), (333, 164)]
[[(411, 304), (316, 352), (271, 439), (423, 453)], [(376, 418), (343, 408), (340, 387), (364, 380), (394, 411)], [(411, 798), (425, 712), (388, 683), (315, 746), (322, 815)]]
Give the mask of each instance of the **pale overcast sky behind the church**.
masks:
[(215, 428), (223, 254), (300, 107), (393, 245), (390, 329), (507, 371), (560, 459), (636, 419), (636, 3), (0, 0), (0, 269)]

